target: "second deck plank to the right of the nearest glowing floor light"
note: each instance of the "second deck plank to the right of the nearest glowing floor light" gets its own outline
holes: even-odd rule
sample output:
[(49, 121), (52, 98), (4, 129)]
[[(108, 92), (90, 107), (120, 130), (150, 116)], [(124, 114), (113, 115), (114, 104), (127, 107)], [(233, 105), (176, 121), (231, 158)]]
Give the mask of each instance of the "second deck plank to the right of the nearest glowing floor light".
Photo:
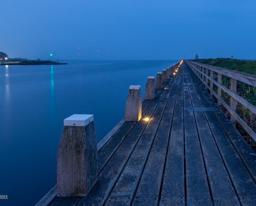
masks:
[(135, 199), (158, 200), (177, 94), (177, 83), (171, 91)]

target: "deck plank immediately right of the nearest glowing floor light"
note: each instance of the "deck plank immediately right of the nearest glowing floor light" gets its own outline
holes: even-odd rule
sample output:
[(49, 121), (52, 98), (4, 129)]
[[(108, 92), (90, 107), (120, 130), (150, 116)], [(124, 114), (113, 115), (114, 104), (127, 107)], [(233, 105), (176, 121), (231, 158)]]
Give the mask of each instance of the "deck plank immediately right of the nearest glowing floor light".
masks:
[(139, 178), (143, 173), (143, 168), (147, 160), (148, 153), (154, 141), (160, 121), (162, 119), (162, 115), (168, 102), (168, 98), (174, 81), (175, 79), (172, 79), (170, 87), (165, 87), (168, 89), (165, 90), (166, 92), (163, 98), (159, 102), (152, 118), (150, 119), (145, 131), (141, 136), (140, 141), (135, 147), (121, 177), (117, 181), (113, 192), (109, 197), (109, 201), (113, 199), (132, 200), (134, 196), (133, 194), (138, 187)]

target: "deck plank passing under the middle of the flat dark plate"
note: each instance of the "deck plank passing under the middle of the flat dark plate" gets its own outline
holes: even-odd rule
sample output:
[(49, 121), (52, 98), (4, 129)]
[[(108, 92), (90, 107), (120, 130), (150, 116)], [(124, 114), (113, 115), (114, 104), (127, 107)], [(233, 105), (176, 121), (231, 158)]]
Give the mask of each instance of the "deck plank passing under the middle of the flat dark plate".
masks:
[[(191, 77), (191, 76), (190, 76)], [(195, 84), (194, 80), (190, 78), (192, 85), (189, 85), (190, 91), (195, 90), (196, 93), (190, 92), (190, 95), (197, 95), (200, 89)], [(202, 86), (203, 87), (203, 86)], [(205, 99), (202, 96), (198, 96), (198, 99), (191, 98), (192, 104), (195, 107), (206, 107)], [(201, 102), (201, 104), (200, 104)], [(218, 148), (215, 144), (212, 132), (208, 127), (206, 118), (202, 112), (194, 112), (195, 121), (200, 136), (200, 142), (203, 150), (204, 161), (206, 164), (207, 174), (210, 182), (210, 190), (212, 191), (213, 200), (234, 199), (236, 194), (233, 190), (227, 171), (220, 157)]]

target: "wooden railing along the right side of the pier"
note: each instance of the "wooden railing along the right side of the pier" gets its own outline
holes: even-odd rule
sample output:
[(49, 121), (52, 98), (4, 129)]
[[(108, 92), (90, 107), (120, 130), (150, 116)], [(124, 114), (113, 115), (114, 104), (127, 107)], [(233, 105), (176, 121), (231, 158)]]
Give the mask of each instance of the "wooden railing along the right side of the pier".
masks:
[[(205, 84), (205, 88), (210, 90), (210, 94), (214, 95), (218, 99), (218, 105), (223, 105), (225, 109), (231, 114), (231, 122), (237, 121), (247, 133), (256, 141), (256, 133), (243, 121), (242, 118), (236, 113), (237, 101), (249, 109), (251, 112), (256, 114), (256, 107), (246, 101), (244, 98), (236, 94), (237, 83), (236, 81), (241, 81), (246, 84), (256, 87), (256, 75), (246, 74), (243, 72), (237, 72), (228, 70), (227, 68), (221, 68), (217, 66), (202, 64), (198, 62), (185, 60), (188, 66), (193, 70), (193, 72), (199, 77), (199, 79)], [(208, 75), (210, 71), (210, 76)], [(218, 81), (214, 80), (214, 72), (218, 74)], [(221, 76), (225, 75), (231, 78), (230, 90), (225, 88), (221, 84)], [(208, 80), (210, 85), (208, 85)], [(214, 84), (218, 87), (218, 92), (214, 91)], [(221, 90), (230, 95), (231, 104), (230, 106), (221, 98)], [(255, 94), (256, 95), (256, 94)]]

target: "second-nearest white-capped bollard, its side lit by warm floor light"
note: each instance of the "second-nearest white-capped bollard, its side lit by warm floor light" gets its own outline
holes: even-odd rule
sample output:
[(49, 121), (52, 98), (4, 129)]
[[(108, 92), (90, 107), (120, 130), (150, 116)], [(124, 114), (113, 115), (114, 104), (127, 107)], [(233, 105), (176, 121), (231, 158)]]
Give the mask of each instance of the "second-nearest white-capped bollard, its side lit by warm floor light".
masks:
[(139, 121), (142, 113), (141, 85), (131, 85), (125, 106), (125, 121)]

